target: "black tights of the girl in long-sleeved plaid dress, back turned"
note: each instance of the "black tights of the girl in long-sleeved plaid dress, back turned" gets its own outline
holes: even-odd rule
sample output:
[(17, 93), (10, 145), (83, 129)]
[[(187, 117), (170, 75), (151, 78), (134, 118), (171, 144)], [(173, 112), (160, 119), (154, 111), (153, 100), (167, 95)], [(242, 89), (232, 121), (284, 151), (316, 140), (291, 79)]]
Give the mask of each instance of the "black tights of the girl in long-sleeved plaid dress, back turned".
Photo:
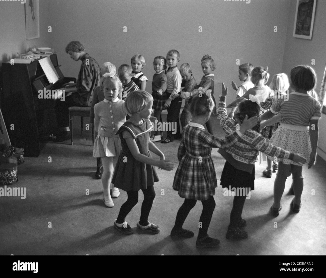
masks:
[[(196, 205), (197, 200), (185, 199), (184, 203), (180, 207), (175, 219), (174, 229), (180, 230), (187, 218), (190, 210)], [(203, 210), (200, 215), (199, 221), (201, 226), (199, 227), (198, 238), (204, 238), (207, 235), (209, 224), (211, 223), (212, 215), (215, 209), (215, 200), (213, 196), (210, 196), (207, 200), (201, 201)]]

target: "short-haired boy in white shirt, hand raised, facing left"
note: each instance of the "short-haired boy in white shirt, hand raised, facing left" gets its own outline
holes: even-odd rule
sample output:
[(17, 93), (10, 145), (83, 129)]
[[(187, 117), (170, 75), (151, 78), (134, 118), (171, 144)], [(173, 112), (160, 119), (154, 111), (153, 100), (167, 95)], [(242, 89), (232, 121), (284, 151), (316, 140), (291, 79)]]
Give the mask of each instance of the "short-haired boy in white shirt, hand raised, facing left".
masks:
[[(245, 63), (239, 66), (239, 80), (243, 83), (237, 87), (237, 84), (233, 81), (231, 82), (232, 88), (237, 91), (236, 99), (242, 97), (249, 89), (253, 88), (255, 85), (251, 82), (251, 71), (254, 69), (254, 66), (250, 63)], [(229, 117), (233, 118), (234, 112), (237, 110), (237, 107), (233, 107), (229, 113)]]

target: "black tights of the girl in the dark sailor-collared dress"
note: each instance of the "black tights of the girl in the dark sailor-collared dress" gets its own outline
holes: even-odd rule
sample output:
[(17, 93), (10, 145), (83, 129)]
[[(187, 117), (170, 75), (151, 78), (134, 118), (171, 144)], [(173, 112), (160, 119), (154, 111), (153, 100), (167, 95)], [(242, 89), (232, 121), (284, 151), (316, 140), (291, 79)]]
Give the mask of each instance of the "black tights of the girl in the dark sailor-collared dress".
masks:
[[(141, 226), (148, 225), (148, 215), (151, 211), (153, 200), (155, 198), (154, 186), (147, 186), (147, 189), (141, 189), (144, 194), (144, 200), (141, 204), (141, 218), (139, 224)], [(128, 199), (124, 202), (120, 208), (117, 223), (122, 224), (125, 221), (127, 214), (138, 203), (138, 191), (127, 191)]]

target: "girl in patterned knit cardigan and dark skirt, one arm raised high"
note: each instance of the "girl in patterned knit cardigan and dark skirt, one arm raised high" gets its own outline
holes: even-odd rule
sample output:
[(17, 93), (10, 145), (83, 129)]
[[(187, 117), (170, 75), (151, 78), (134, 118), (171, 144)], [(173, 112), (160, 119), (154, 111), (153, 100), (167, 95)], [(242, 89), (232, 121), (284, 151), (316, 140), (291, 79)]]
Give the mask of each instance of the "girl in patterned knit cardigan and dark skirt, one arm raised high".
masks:
[[(235, 114), (235, 120), (228, 117), (225, 106), (225, 96), (227, 88), (224, 83), (222, 86), (222, 96), (217, 108), (217, 119), (226, 134), (234, 132), (243, 122), (245, 115), (248, 118), (259, 116), (259, 104), (251, 100), (242, 101)], [(247, 233), (240, 230), (246, 225), (246, 221), (242, 219), (242, 209), (244, 201), (251, 190), (255, 187), (255, 162), (257, 160), (258, 151), (270, 155), (272, 157), (285, 158), (294, 162), (305, 163), (306, 159), (293, 152), (285, 151), (280, 147), (272, 145), (268, 139), (265, 139), (259, 134), (260, 123), (253, 129), (247, 130), (244, 136), (236, 142), (230, 149), (219, 149), (218, 152), (226, 159), (222, 175), (221, 185), (224, 188), (236, 189), (233, 199), (233, 207), (230, 214), (230, 225), (226, 234), (227, 239), (245, 239)]]

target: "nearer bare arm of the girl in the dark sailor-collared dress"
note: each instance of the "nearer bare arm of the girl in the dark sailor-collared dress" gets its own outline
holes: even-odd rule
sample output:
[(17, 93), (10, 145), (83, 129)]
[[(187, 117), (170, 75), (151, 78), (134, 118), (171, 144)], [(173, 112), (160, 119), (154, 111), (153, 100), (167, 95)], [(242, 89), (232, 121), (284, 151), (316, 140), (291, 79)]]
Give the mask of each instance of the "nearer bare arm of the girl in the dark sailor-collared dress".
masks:
[(128, 131), (124, 131), (123, 138), (126, 140), (126, 143), (128, 145), (128, 148), (129, 148), (132, 156), (139, 162), (157, 166), (158, 168), (162, 168), (167, 171), (173, 170), (174, 165), (169, 160), (155, 160), (153, 158), (147, 157), (144, 154), (141, 154), (139, 152), (139, 148), (136, 144), (136, 140), (132, 137), (132, 135)]

